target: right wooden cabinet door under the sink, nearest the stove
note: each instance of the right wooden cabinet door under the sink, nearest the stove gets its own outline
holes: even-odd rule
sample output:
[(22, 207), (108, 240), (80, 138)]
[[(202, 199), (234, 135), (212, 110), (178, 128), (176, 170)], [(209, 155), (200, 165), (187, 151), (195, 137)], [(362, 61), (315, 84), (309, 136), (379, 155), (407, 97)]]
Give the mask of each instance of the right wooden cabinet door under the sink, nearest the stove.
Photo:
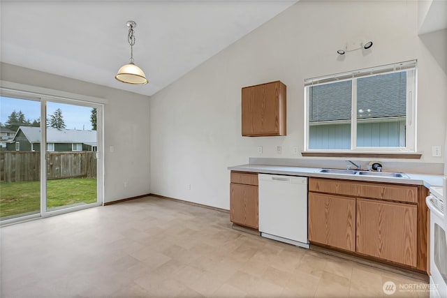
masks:
[(417, 206), (357, 199), (356, 250), (416, 267)]

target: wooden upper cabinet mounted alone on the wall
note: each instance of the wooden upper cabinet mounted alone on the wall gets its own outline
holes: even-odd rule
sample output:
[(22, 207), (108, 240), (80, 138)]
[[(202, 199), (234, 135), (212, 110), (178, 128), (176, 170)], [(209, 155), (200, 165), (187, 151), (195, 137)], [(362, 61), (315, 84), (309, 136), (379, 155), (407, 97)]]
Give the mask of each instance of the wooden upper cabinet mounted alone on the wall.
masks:
[(286, 135), (286, 85), (280, 81), (242, 88), (242, 135)]

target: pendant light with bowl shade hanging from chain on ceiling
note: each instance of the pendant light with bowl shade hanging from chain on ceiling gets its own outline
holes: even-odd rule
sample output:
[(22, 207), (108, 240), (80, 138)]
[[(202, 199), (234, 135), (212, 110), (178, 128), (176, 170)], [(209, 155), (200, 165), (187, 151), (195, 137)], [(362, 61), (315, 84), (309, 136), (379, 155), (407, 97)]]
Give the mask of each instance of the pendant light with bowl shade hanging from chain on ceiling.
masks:
[(126, 64), (119, 68), (117, 75), (115, 75), (115, 79), (119, 80), (119, 82), (124, 82), (127, 84), (147, 84), (147, 79), (145, 73), (133, 64), (133, 45), (135, 45), (135, 35), (133, 35), (133, 28), (137, 27), (137, 23), (133, 21), (126, 22), (126, 26), (129, 27), (129, 34), (127, 36), (127, 41), (129, 45), (131, 45), (131, 63)]

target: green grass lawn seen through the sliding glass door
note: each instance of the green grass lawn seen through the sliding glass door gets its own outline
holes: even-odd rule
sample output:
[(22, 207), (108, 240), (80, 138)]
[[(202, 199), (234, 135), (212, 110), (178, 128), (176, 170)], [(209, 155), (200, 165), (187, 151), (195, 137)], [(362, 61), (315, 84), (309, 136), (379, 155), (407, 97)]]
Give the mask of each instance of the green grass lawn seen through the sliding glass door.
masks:
[[(41, 204), (39, 181), (0, 184), (0, 218), (38, 213)], [(47, 181), (47, 208), (96, 202), (96, 179), (72, 178)]]

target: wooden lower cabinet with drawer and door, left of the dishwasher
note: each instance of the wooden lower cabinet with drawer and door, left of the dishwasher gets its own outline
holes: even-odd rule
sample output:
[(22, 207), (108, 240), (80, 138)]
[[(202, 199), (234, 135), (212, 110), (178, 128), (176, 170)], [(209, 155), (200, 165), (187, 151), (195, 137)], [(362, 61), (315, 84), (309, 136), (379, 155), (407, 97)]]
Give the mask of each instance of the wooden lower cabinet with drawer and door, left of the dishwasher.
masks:
[(258, 230), (258, 174), (231, 172), (230, 221)]

